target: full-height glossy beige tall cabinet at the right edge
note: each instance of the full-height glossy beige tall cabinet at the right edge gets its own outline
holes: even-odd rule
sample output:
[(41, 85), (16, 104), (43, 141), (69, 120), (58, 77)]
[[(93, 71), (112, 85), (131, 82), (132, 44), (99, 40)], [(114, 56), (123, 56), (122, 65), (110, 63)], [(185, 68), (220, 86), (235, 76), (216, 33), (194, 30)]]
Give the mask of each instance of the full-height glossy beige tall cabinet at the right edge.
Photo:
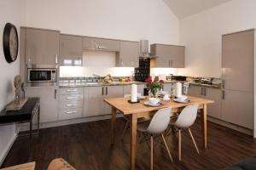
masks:
[(255, 31), (222, 37), (222, 119), (253, 129), (253, 82)]

